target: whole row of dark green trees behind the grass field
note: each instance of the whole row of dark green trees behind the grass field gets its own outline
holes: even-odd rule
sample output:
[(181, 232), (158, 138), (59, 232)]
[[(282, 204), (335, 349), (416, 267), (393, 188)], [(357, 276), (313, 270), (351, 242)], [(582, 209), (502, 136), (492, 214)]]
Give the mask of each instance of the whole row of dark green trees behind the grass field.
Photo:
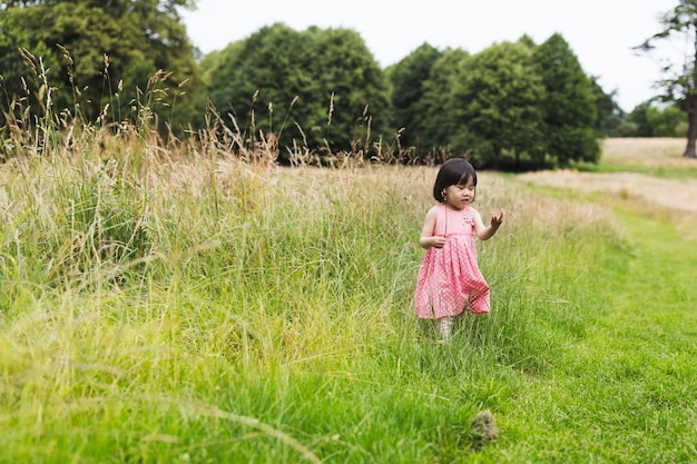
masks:
[(28, 113), (119, 124), (147, 110), (180, 136), (214, 113), (249, 144), (273, 140), (283, 161), (298, 149), (414, 162), (470, 151), (482, 168), (520, 169), (595, 162), (598, 138), (671, 135), (684, 115), (650, 102), (625, 113), (558, 33), (475, 55), (424, 43), (381, 69), (353, 30), (277, 23), (197, 57), (178, 13), (193, 7), (0, 2), (0, 134)]

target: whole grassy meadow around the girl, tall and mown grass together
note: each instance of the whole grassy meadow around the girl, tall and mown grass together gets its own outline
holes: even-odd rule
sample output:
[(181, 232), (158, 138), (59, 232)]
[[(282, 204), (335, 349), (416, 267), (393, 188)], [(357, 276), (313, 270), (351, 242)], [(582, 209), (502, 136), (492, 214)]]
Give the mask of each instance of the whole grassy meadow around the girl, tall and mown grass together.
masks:
[[(150, 136), (0, 166), (0, 462), (697, 460), (689, 213), (480, 172), (493, 307), (442, 344), (412, 309), (435, 167)], [(689, 177), (597, 170), (647, 156)]]

